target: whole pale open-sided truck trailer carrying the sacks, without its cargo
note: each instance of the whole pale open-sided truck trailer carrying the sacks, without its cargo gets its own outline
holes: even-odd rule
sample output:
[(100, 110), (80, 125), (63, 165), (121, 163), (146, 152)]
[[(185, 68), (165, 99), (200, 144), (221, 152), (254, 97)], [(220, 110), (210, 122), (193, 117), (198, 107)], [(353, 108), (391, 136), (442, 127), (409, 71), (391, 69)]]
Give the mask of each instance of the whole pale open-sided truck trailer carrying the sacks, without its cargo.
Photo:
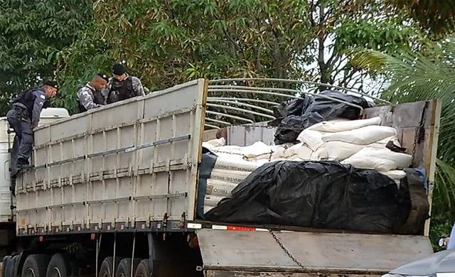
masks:
[[(11, 180), (16, 245), (3, 276), (380, 276), (432, 253), (429, 220), (417, 235), (398, 235), (198, 219), (203, 141), (218, 132), (236, 146), (273, 143), (274, 129), (251, 117), (223, 132), (205, 120), (221, 114), (220, 102), (232, 110), (235, 100), (220, 92), (287, 96), (216, 82), (193, 80), (42, 122), (31, 166)], [(440, 112), (438, 100), (362, 111), (397, 129), (412, 165), (425, 169), (430, 205)]]

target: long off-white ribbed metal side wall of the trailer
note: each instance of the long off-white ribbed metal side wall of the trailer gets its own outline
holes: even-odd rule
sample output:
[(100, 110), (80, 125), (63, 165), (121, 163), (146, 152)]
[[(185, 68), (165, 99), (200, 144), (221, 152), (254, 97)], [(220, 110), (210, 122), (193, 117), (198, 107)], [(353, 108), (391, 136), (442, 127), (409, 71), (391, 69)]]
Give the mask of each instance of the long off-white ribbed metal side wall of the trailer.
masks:
[(195, 80), (36, 130), (35, 167), (16, 181), (18, 232), (193, 219), (205, 98)]

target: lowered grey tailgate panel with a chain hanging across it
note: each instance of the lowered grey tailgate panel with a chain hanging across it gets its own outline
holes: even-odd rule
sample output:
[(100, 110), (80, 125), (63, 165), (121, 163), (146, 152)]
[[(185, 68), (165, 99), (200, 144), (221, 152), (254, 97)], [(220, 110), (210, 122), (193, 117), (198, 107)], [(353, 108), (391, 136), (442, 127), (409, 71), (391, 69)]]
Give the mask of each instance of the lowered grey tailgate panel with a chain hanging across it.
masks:
[(205, 276), (377, 275), (432, 254), (428, 237), (382, 234), (197, 232)]

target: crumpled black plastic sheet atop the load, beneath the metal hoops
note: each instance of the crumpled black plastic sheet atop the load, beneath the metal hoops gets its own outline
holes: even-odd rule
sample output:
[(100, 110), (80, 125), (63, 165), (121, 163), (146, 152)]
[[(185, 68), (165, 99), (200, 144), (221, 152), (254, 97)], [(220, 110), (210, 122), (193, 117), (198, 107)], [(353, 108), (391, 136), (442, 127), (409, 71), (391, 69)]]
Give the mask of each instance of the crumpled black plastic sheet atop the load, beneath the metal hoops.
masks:
[[(374, 107), (373, 103), (363, 97), (333, 90), (325, 90), (319, 95), (356, 104), (363, 109)], [(303, 95), (301, 98), (303, 99), (292, 99), (274, 107), (274, 116), (277, 119), (269, 122), (269, 126), (278, 127), (275, 133), (275, 144), (294, 143), (301, 131), (324, 120), (336, 117), (358, 119), (360, 116), (360, 109), (347, 104), (310, 94)]]

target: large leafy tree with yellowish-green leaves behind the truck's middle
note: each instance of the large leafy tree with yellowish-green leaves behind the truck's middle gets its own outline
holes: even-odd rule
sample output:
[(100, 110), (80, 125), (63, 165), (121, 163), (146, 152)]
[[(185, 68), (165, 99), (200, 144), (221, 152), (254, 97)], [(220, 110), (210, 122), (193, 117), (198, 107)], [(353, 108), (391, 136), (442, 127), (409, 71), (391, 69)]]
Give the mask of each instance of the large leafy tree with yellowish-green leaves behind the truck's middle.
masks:
[(95, 21), (63, 53), (63, 103), (69, 107), (77, 87), (117, 60), (151, 90), (197, 77), (359, 85), (365, 72), (344, 51), (371, 45), (392, 53), (419, 41), (416, 28), (384, 7), (378, 0), (97, 1)]

